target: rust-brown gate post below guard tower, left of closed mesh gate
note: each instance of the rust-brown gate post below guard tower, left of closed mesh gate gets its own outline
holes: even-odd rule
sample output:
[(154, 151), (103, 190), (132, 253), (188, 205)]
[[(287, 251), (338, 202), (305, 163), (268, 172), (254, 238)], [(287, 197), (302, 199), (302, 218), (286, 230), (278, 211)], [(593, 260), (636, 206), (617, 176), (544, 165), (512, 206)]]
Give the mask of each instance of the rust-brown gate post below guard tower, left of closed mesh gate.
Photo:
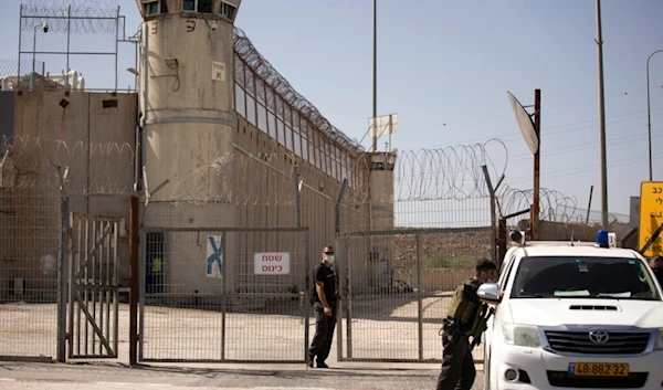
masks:
[(129, 365), (137, 363), (138, 346), (138, 197), (131, 197), (129, 215)]

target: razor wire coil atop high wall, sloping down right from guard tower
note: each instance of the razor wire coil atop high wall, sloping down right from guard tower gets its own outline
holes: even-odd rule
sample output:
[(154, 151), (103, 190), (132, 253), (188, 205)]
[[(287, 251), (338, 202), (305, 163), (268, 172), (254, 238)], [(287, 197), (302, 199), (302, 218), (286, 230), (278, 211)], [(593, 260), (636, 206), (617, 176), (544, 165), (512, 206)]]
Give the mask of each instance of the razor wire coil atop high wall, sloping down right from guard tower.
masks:
[[(287, 80), (260, 54), (253, 46), (253, 43), (246, 38), (246, 34), (239, 28), (234, 28), (234, 51), (241, 60), (236, 61), (235, 59), (235, 66), (241, 66), (242, 62), (245, 63), (252, 72), (274, 88), (287, 104), (297, 109), (304, 118), (307, 118), (335, 143), (355, 152), (364, 151), (364, 147), (356, 139), (350, 139), (341, 130), (332, 125), (311, 102), (295, 91)], [(238, 82), (242, 82), (241, 77), (238, 77)]]

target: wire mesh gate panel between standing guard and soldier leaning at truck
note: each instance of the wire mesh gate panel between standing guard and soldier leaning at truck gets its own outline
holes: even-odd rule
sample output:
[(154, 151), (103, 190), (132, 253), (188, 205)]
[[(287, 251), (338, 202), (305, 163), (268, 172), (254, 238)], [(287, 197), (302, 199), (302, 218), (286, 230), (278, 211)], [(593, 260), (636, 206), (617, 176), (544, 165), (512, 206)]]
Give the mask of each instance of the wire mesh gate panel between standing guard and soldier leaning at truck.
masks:
[[(441, 361), (454, 289), (491, 250), (490, 228), (337, 233), (339, 360)], [(483, 348), (475, 348), (482, 361)]]

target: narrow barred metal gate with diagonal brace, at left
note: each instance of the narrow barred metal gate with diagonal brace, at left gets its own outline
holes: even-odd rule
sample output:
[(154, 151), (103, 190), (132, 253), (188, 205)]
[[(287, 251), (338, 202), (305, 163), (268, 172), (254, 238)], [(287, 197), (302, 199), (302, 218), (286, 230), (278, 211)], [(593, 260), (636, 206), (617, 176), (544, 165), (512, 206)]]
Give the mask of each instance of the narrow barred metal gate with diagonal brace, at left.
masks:
[(122, 219), (72, 213), (69, 358), (116, 358), (117, 236)]

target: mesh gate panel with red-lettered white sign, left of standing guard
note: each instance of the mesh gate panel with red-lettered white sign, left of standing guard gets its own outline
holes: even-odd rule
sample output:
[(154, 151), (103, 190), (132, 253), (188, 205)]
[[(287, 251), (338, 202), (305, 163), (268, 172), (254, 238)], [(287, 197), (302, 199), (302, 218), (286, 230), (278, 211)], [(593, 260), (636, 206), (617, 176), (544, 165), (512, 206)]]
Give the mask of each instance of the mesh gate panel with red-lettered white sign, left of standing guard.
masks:
[(144, 361), (305, 361), (305, 228), (145, 229)]

